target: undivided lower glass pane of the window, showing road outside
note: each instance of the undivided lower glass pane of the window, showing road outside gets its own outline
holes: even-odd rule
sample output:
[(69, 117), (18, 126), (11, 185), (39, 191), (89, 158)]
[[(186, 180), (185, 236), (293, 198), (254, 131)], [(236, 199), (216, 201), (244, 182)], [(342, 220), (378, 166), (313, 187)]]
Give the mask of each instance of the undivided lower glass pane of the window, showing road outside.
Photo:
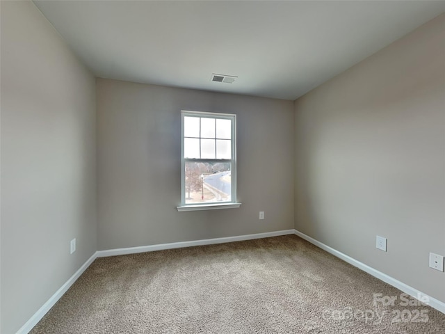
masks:
[(232, 164), (186, 162), (186, 204), (232, 201)]

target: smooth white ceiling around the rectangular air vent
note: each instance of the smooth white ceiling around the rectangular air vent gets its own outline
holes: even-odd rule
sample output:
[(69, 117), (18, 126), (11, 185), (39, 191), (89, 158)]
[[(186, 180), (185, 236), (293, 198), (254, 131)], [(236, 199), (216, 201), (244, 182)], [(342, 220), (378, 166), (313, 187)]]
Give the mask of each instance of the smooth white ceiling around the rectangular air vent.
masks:
[(445, 1), (34, 3), (97, 77), (286, 100), (445, 11)]

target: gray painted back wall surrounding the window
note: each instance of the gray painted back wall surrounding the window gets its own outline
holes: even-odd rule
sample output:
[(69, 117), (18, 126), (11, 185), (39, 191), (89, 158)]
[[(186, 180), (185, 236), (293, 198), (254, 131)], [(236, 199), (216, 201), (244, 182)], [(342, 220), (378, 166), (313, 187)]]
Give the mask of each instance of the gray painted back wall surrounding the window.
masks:
[[(293, 102), (96, 84), (99, 250), (293, 228)], [(236, 114), (240, 208), (177, 212), (181, 109)]]

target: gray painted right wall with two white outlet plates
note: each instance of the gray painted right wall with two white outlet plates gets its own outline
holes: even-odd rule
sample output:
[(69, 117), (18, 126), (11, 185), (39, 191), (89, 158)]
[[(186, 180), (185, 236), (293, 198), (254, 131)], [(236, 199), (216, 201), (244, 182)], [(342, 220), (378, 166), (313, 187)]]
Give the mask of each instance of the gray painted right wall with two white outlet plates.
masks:
[(295, 227), (445, 302), (444, 73), (442, 15), (296, 101)]

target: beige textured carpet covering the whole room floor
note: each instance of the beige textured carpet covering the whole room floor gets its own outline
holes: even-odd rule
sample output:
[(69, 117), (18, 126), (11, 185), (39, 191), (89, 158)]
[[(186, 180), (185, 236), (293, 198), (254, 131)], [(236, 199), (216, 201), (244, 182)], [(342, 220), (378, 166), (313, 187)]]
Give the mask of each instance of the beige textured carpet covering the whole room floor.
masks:
[(445, 333), (405, 297), (289, 235), (98, 258), (31, 333)]

